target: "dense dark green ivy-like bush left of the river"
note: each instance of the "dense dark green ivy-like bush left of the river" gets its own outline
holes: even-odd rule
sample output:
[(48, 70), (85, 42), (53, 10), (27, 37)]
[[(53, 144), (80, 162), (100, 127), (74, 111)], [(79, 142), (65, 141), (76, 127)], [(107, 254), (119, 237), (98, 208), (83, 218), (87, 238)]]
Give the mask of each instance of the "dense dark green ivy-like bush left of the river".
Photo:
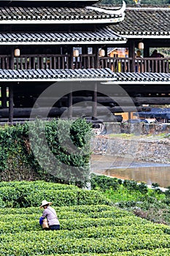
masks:
[(89, 178), (91, 135), (91, 125), (82, 118), (1, 127), (0, 179), (83, 186)]

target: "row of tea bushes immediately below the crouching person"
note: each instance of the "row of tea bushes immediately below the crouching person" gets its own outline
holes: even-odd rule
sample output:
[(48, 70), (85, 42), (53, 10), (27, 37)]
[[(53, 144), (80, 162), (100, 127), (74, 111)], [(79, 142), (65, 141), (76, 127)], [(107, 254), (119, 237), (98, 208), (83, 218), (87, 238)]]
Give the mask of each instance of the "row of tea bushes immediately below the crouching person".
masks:
[[(59, 238), (123, 238), (123, 236), (141, 236), (143, 235), (165, 235), (170, 234), (170, 228), (166, 229), (166, 227), (157, 226), (153, 227), (153, 225), (150, 225), (150, 223), (147, 223), (145, 225), (140, 224), (136, 227), (136, 225), (131, 226), (114, 226), (111, 227), (86, 227), (86, 228), (80, 228), (75, 230), (60, 230), (60, 232), (55, 233), (55, 239)], [(15, 241), (16, 239), (22, 240), (23, 242), (26, 241), (39, 241), (39, 236), (43, 236), (44, 230), (31, 230), (29, 232), (23, 233), (18, 232), (17, 238), (16, 233), (10, 233), (10, 236), (8, 233), (2, 233), (1, 234), (1, 241), (10, 242)], [(53, 238), (53, 233), (48, 233), (47, 236), (49, 238)]]

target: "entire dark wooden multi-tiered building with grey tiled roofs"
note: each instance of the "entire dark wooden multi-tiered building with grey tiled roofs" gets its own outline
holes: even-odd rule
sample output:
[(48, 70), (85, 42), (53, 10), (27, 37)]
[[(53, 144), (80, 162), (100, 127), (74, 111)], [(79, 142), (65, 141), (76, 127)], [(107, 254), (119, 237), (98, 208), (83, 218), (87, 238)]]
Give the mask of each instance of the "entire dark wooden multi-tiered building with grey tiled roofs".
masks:
[[(150, 57), (150, 48), (170, 45), (169, 16), (168, 7), (125, 2), (2, 0), (0, 122), (28, 120), (33, 108), (41, 118), (67, 113), (108, 121), (169, 105), (170, 58)], [(139, 43), (142, 58), (135, 55)], [(122, 48), (128, 56), (111, 54)], [(45, 94), (53, 86), (55, 93)]]

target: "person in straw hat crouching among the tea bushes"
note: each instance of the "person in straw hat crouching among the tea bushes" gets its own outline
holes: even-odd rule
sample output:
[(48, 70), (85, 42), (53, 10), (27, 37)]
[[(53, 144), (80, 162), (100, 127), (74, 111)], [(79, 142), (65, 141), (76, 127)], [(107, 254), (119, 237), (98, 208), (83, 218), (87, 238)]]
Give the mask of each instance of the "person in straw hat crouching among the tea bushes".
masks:
[(39, 224), (43, 227), (43, 222), (47, 219), (47, 226), (44, 226), (43, 229), (60, 230), (60, 222), (58, 221), (55, 209), (50, 206), (51, 204), (51, 202), (47, 202), (46, 200), (42, 201), (40, 208), (44, 208), (44, 211), (42, 213), (42, 217), (39, 218)]

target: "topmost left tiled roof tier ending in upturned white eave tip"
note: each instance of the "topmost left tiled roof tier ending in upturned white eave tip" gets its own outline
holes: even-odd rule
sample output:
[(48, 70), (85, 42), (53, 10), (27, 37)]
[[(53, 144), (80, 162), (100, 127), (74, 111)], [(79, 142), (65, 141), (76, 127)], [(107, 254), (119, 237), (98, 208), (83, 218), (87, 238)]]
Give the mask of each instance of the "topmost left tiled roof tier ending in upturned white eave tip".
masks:
[(123, 18), (122, 14), (107, 14), (86, 7), (0, 7), (1, 24), (115, 23)]

